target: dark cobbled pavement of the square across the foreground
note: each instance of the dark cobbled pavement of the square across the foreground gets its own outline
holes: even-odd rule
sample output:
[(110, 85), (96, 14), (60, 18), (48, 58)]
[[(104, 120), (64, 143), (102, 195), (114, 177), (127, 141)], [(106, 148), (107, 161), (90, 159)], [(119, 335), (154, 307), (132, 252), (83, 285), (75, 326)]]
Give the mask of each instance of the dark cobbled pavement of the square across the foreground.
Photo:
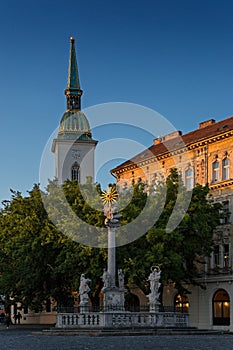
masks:
[(0, 350), (232, 350), (233, 335), (43, 336), (36, 329), (0, 329)]

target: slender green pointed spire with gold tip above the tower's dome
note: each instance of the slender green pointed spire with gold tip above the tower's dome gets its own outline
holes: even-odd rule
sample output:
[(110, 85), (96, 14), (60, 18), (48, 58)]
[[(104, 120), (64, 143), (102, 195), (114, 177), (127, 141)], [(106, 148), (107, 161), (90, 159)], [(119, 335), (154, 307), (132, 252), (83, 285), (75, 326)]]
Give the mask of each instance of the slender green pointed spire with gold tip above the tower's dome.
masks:
[(65, 90), (67, 100), (67, 110), (78, 109), (81, 110), (81, 96), (82, 90), (80, 89), (78, 65), (75, 51), (75, 39), (70, 38), (70, 60), (68, 70), (68, 83)]

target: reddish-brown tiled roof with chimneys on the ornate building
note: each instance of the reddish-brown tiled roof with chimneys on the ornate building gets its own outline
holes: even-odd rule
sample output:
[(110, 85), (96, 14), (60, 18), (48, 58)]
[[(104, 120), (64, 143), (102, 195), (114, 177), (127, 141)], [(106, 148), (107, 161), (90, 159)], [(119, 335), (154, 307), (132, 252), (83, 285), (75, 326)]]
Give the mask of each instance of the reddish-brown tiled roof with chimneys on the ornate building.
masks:
[(198, 142), (210, 140), (211, 138), (225, 134), (228, 131), (233, 132), (233, 116), (219, 122), (215, 122), (214, 119), (207, 120), (199, 124), (199, 129), (184, 135), (182, 135), (180, 131), (173, 132), (172, 134), (155, 139), (152, 146), (137, 154), (130, 160), (118, 165), (111, 170), (111, 173), (116, 173), (130, 165), (137, 165), (149, 158), (158, 157), (165, 153), (189, 147)]

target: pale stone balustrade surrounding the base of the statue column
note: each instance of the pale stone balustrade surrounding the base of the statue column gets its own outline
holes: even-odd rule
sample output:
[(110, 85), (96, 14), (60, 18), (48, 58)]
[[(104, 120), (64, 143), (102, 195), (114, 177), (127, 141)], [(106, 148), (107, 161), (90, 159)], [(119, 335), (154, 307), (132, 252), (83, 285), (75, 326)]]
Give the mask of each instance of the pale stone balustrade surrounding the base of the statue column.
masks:
[(189, 315), (179, 312), (58, 313), (57, 328), (156, 328), (189, 326)]

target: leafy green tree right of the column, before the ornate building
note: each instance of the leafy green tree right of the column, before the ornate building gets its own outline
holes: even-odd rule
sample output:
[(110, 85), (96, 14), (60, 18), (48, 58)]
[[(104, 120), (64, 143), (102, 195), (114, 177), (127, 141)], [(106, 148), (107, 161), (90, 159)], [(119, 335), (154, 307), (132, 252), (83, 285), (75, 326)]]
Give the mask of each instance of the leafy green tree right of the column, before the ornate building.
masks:
[(212, 251), (221, 205), (213, 202), (207, 185), (187, 191), (176, 169), (171, 169), (168, 178), (156, 188), (141, 183), (133, 184), (133, 188), (132, 200), (121, 212), (122, 223), (127, 224), (143, 209), (147, 192), (152, 198), (148, 216), (154, 217), (154, 224), (145, 236), (117, 248), (118, 264), (126, 280), (148, 294), (150, 267), (158, 265), (163, 284), (173, 282), (179, 292), (187, 291), (187, 284), (198, 284), (205, 257)]

